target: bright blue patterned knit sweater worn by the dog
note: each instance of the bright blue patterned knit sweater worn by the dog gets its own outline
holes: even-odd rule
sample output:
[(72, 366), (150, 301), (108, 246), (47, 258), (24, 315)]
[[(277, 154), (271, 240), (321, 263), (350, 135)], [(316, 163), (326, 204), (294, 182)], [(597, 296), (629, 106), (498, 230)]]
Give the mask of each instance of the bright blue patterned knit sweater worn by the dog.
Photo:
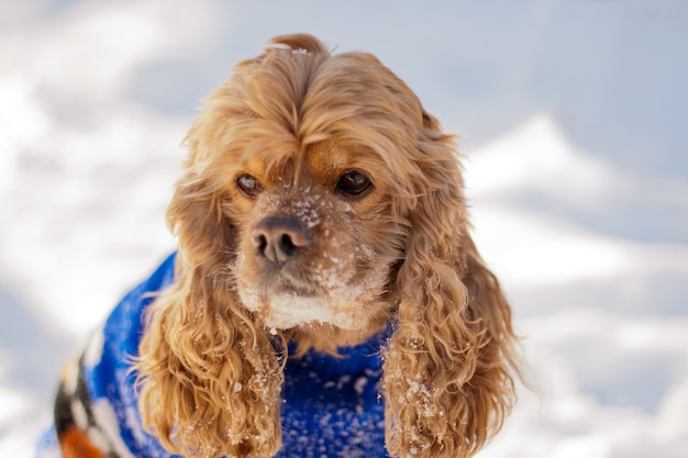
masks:
[[(54, 424), (38, 442), (38, 457), (62, 457), (65, 445), (85, 458), (176, 457), (143, 429), (131, 372), (152, 293), (174, 281), (174, 266), (171, 255), (126, 294), (67, 369), (55, 402)], [(380, 396), (384, 339), (380, 334), (365, 344), (341, 348), (342, 358), (310, 351), (288, 360), (282, 447), (276, 457), (388, 456)]]

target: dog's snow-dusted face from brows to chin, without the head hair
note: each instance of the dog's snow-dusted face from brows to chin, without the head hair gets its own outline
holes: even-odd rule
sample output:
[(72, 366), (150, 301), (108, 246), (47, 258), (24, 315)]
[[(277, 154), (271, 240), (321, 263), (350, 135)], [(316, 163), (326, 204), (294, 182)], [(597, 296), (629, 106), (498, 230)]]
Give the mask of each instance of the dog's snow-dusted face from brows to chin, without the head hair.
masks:
[(234, 171), (236, 287), (266, 326), (365, 329), (388, 316), (400, 256), (400, 243), (388, 237), (399, 228), (384, 171), (366, 163), (362, 148), (322, 141), (269, 169), (267, 153)]

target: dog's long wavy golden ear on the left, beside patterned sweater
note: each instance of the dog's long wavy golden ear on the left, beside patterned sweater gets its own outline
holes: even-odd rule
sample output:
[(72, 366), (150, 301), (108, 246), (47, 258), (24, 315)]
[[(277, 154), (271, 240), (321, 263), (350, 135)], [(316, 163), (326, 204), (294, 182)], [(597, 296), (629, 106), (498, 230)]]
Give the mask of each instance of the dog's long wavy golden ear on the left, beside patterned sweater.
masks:
[(273, 456), (281, 362), (237, 305), (233, 227), (221, 197), (189, 171), (168, 208), (179, 237), (175, 284), (152, 305), (135, 365), (144, 426), (192, 457)]

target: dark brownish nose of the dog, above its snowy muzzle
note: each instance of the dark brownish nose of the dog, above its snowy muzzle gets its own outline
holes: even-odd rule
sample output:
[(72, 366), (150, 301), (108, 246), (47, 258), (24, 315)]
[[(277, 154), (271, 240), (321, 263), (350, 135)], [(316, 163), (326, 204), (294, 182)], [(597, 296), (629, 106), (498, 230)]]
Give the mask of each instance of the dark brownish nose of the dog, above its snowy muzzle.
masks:
[(259, 256), (277, 264), (287, 261), (311, 244), (308, 231), (298, 220), (280, 216), (260, 221), (251, 241)]

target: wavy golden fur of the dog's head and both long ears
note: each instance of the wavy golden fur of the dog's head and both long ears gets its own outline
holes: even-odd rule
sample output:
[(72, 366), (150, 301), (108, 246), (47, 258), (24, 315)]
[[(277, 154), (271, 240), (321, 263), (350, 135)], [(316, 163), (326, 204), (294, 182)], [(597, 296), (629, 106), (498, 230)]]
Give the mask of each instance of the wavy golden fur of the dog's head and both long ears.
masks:
[[(454, 137), (398, 77), (278, 36), (208, 98), (186, 143), (167, 216), (177, 280), (136, 364), (166, 448), (273, 456), (287, 344), (336, 353), (389, 323), (390, 455), (468, 457), (501, 427), (519, 373), (510, 309), (468, 233)], [(266, 217), (303, 225), (295, 268), (256, 255)], [(285, 298), (311, 315), (287, 316)]]

